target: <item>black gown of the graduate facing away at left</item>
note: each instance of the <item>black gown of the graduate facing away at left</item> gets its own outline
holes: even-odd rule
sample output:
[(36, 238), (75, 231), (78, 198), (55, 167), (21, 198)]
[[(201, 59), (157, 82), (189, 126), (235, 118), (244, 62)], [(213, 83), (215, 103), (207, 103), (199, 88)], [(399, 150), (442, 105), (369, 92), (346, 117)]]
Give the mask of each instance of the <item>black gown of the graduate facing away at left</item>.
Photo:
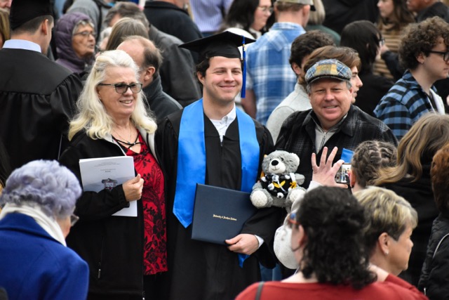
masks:
[(58, 159), (81, 89), (76, 74), (41, 53), (0, 51), (0, 138), (13, 169)]

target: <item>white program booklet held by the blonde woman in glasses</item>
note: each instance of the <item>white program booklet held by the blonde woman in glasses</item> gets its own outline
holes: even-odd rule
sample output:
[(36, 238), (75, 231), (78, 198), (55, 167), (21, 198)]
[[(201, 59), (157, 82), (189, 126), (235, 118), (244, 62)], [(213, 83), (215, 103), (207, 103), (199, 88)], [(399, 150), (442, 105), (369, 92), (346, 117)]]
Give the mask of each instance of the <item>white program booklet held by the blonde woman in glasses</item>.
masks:
[[(79, 159), (81, 181), (86, 192), (112, 190), (116, 185), (135, 177), (134, 159), (130, 156)], [(137, 201), (129, 202), (129, 207), (117, 211), (112, 216), (138, 216)]]

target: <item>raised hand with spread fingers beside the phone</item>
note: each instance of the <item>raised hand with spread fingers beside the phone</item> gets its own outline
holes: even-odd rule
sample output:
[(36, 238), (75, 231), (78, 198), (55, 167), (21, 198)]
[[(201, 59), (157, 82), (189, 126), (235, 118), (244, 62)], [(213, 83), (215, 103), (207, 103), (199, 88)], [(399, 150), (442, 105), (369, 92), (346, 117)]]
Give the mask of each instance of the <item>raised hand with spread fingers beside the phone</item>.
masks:
[(335, 155), (337, 155), (337, 151), (338, 148), (334, 147), (332, 152), (330, 152), (328, 159), (326, 159), (326, 157), (328, 156), (328, 148), (324, 147), (323, 154), (321, 154), (319, 166), (316, 165), (316, 154), (315, 153), (311, 154), (311, 169), (313, 171), (313, 174), (311, 176), (312, 181), (316, 181), (321, 185), (335, 186), (337, 188), (348, 187), (344, 183), (335, 182), (335, 174), (337, 174), (338, 169), (340, 169), (340, 167), (342, 167), (342, 164), (344, 163), (344, 160), (340, 159), (338, 162), (335, 162), (335, 164), (332, 165), (334, 157)]

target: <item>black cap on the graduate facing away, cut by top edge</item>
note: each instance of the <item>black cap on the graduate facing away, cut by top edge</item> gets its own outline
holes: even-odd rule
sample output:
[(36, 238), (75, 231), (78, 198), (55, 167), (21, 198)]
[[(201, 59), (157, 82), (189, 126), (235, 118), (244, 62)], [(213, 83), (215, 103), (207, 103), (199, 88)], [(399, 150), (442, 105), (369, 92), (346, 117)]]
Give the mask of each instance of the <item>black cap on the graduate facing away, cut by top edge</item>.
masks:
[(14, 0), (9, 13), (11, 30), (41, 15), (53, 16), (53, 5), (50, 0)]

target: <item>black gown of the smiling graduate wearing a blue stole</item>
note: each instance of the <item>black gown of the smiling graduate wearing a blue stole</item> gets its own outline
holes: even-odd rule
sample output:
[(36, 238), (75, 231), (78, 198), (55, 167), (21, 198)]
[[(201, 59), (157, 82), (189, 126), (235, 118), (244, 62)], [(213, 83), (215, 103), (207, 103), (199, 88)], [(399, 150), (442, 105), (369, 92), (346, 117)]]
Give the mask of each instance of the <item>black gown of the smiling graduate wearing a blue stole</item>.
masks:
[[(191, 228), (184, 228), (173, 214), (177, 178), (177, 137), (181, 112), (163, 119), (156, 132), (156, 148), (166, 174), (168, 296), (167, 299), (234, 299), (239, 292), (260, 280), (259, 261), (274, 267), (272, 249), (274, 231), (281, 222), (281, 209), (260, 209), (249, 219), (241, 233), (255, 234), (264, 239), (260, 249), (240, 268), (238, 256), (226, 246), (191, 239)], [(212, 122), (204, 116), (206, 141), (206, 184), (239, 190), (241, 157), (238, 120), (220, 137)], [(260, 161), (272, 151), (269, 131), (255, 122), (260, 144)]]

